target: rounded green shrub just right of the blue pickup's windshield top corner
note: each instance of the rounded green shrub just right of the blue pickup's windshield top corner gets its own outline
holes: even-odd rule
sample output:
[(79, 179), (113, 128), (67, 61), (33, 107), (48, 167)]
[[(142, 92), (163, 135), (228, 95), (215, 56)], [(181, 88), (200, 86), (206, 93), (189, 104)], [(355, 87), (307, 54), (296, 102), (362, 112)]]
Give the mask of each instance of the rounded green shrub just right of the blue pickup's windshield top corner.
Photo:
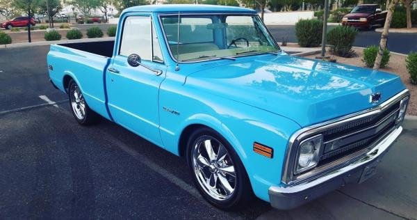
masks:
[(317, 47), (322, 40), (323, 22), (319, 19), (300, 19), (295, 24), (295, 36), (301, 47)]

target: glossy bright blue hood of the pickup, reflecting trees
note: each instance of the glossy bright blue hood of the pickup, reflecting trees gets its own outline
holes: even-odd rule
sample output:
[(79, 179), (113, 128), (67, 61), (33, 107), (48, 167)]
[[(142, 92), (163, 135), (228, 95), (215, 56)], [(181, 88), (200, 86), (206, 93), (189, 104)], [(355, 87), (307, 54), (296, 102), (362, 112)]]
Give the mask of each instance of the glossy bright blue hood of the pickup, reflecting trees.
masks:
[(404, 90), (395, 74), (296, 56), (247, 56), (189, 74), (186, 84), (295, 120), (302, 127), (375, 106)]

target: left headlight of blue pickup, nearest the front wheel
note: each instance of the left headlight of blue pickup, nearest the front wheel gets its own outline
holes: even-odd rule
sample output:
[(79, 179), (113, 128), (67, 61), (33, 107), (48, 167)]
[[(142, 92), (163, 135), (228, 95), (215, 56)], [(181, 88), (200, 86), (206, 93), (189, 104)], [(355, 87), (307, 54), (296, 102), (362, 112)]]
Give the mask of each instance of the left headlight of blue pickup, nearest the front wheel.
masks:
[(302, 173), (317, 166), (320, 159), (323, 136), (321, 134), (306, 139), (300, 143), (297, 153), (295, 174)]

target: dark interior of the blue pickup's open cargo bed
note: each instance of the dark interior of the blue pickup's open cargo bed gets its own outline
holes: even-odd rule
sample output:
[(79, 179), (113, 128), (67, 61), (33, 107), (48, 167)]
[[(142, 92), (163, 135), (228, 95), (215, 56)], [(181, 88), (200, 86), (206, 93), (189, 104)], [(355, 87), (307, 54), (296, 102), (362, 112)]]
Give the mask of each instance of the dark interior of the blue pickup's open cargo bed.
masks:
[(89, 52), (92, 54), (111, 57), (113, 56), (114, 44), (115, 44), (114, 40), (108, 40), (108, 41), (96, 41), (96, 42), (74, 42), (74, 43), (66, 43), (66, 44), (59, 44), (59, 45), (63, 47), (70, 47), (72, 49), (79, 49), (83, 52)]

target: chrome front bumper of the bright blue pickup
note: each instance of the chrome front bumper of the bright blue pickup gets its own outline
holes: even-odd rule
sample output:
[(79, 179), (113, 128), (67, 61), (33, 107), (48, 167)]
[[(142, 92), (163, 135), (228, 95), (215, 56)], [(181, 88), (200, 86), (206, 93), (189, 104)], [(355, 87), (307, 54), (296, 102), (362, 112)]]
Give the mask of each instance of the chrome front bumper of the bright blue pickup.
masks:
[(388, 152), (390, 146), (398, 139), (401, 132), (401, 126), (393, 129), (366, 155), (343, 168), (338, 168), (335, 171), (325, 173), (316, 179), (306, 182), (270, 187), (269, 197), (272, 207), (288, 210), (334, 191), (346, 183), (359, 182), (363, 169), (368, 164), (379, 162), (385, 153)]

